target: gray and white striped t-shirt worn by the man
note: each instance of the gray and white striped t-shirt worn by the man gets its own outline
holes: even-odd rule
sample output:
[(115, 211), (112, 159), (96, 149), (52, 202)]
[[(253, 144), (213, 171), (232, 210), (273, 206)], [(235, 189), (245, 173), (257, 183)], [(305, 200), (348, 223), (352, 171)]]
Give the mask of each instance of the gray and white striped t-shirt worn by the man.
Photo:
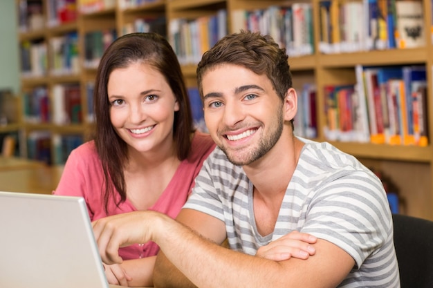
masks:
[(257, 232), (252, 183), (218, 147), (184, 208), (225, 222), (233, 250), (255, 255), (259, 247), (302, 231), (336, 244), (355, 260), (338, 287), (400, 287), (391, 212), (378, 177), (329, 143), (300, 140), (306, 144), (270, 235)]

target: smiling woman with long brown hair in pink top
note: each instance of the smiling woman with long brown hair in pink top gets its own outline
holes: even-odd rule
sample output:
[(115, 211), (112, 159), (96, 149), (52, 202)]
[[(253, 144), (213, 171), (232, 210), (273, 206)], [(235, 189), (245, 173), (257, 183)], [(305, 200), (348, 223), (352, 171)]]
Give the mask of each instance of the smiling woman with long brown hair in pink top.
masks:
[[(160, 35), (124, 35), (104, 52), (95, 80), (95, 140), (69, 155), (56, 195), (82, 196), (92, 221), (154, 210), (176, 218), (214, 149), (195, 131), (181, 67)], [(104, 265), (111, 284), (151, 286), (158, 246), (120, 249)]]

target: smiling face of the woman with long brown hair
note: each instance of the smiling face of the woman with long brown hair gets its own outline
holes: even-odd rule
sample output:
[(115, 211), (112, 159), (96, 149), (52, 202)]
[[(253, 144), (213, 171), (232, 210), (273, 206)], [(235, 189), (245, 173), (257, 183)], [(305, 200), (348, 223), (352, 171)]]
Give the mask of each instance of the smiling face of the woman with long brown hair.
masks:
[(129, 148), (145, 153), (172, 147), (179, 104), (158, 70), (142, 63), (115, 69), (107, 92), (111, 124)]

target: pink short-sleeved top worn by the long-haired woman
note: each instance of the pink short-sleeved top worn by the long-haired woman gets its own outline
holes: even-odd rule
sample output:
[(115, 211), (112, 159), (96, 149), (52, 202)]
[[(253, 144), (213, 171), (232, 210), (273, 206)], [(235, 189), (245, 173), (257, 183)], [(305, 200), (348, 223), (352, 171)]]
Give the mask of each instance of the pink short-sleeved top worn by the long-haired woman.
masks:
[[(192, 152), (178, 166), (167, 188), (149, 210), (176, 218), (194, 186), (194, 179), (199, 174), (203, 161), (214, 148), (215, 144), (210, 135), (196, 132), (192, 140)], [(90, 141), (73, 150), (68, 156), (62, 177), (53, 194), (83, 197), (86, 200), (90, 219), (93, 221), (107, 216), (104, 209), (103, 186), (104, 173), (101, 162), (96, 152), (95, 142)], [(145, 193), (144, 187), (143, 193)], [(118, 194), (117, 196), (116, 201), (120, 199)], [(116, 207), (114, 202), (110, 202), (108, 208), (109, 215), (137, 211), (129, 200), (122, 202), (119, 207)], [(123, 260), (145, 258), (155, 256), (158, 250), (159, 247), (154, 242), (147, 242), (120, 248), (119, 255)]]

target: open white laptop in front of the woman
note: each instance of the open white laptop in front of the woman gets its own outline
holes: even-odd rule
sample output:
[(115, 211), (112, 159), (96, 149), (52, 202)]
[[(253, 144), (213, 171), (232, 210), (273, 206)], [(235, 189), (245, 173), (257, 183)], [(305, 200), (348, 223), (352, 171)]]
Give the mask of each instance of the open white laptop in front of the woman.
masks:
[(83, 198), (0, 192), (0, 287), (109, 288)]

